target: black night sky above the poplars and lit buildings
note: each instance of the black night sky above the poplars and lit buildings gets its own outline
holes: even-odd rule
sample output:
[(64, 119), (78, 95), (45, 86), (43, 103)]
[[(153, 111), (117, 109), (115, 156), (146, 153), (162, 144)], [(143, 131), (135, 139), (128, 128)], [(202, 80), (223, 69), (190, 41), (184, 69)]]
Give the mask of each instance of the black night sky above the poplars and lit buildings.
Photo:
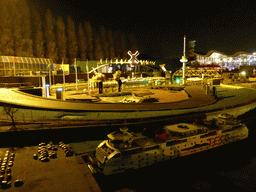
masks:
[(44, 6), (96, 29), (134, 33), (140, 52), (153, 58), (180, 58), (184, 35), (200, 52), (256, 51), (255, 1), (153, 2), (44, 0)]

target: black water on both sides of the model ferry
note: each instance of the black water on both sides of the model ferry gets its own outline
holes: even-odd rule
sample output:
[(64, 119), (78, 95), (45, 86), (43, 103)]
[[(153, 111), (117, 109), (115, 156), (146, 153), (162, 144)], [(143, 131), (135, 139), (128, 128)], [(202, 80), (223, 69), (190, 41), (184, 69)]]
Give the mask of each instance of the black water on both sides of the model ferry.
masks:
[[(256, 110), (242, 115), (249, 137), (215, 149), (111, 176), (95, 176), (102, 191), (256, 191)], [(152, 125), (148, 125), (149, 127)], [(143, 128), (137, 126), (132, 129)], [(106, 139), (118, 127), (1, 133), (1, 147)]]

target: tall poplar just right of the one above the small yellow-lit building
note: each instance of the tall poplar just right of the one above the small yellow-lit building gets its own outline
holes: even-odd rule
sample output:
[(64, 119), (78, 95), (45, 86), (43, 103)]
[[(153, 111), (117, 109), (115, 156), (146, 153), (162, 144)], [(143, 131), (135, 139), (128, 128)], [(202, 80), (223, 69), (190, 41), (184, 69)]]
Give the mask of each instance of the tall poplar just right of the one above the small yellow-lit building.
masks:
[(73, 63), (74, 59), (78, 55), (78, 46), (77, 46), (77, 39), (76, 39), (76, 29), (75, 29), (75, 23), (71, 19), (70, 16), (68, 16), (67, 19), (67, 36), (68, 36), (68, 57), (69, 57), (69, 63)]

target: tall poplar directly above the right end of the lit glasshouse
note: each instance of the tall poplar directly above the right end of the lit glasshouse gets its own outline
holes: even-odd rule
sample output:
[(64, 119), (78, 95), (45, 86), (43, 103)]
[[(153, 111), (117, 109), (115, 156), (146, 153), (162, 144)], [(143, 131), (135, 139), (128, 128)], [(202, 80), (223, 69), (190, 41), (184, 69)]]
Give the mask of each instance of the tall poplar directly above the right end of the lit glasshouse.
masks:
[(57, 61), (56, 38), (54, 33), (54, 18), (49, 9), (46, 10), (44, 37), (46, 45), (46, 57), (51, 58), (53, 62)]

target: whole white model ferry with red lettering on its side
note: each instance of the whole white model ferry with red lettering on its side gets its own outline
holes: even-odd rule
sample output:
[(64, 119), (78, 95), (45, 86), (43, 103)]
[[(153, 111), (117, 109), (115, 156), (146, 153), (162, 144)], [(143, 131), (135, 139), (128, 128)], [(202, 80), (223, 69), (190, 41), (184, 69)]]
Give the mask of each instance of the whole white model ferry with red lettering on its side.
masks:
[(108, 134), (88, 166), (93, 173), (111, 175), (190, 155), (248, 137), (248, 128), (232, 115), (221, 114), (207, 124), (167, 125), (154, 136), (130, 133), (127, 128)]

